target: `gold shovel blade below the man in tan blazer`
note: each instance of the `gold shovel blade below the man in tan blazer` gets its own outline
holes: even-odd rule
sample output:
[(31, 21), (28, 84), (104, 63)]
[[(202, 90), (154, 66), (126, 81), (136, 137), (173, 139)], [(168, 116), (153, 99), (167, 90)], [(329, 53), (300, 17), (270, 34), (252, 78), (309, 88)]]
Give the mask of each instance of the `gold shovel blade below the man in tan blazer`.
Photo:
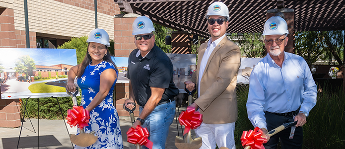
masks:
[(203, 141), (201, 137), (192, 139), (190, 143), (186, 143), (187, 141), (183, 140), (183, 138), (176, 136), (175, 138), (175, 146), (177, 149), (200, 149), (203, 145)]

